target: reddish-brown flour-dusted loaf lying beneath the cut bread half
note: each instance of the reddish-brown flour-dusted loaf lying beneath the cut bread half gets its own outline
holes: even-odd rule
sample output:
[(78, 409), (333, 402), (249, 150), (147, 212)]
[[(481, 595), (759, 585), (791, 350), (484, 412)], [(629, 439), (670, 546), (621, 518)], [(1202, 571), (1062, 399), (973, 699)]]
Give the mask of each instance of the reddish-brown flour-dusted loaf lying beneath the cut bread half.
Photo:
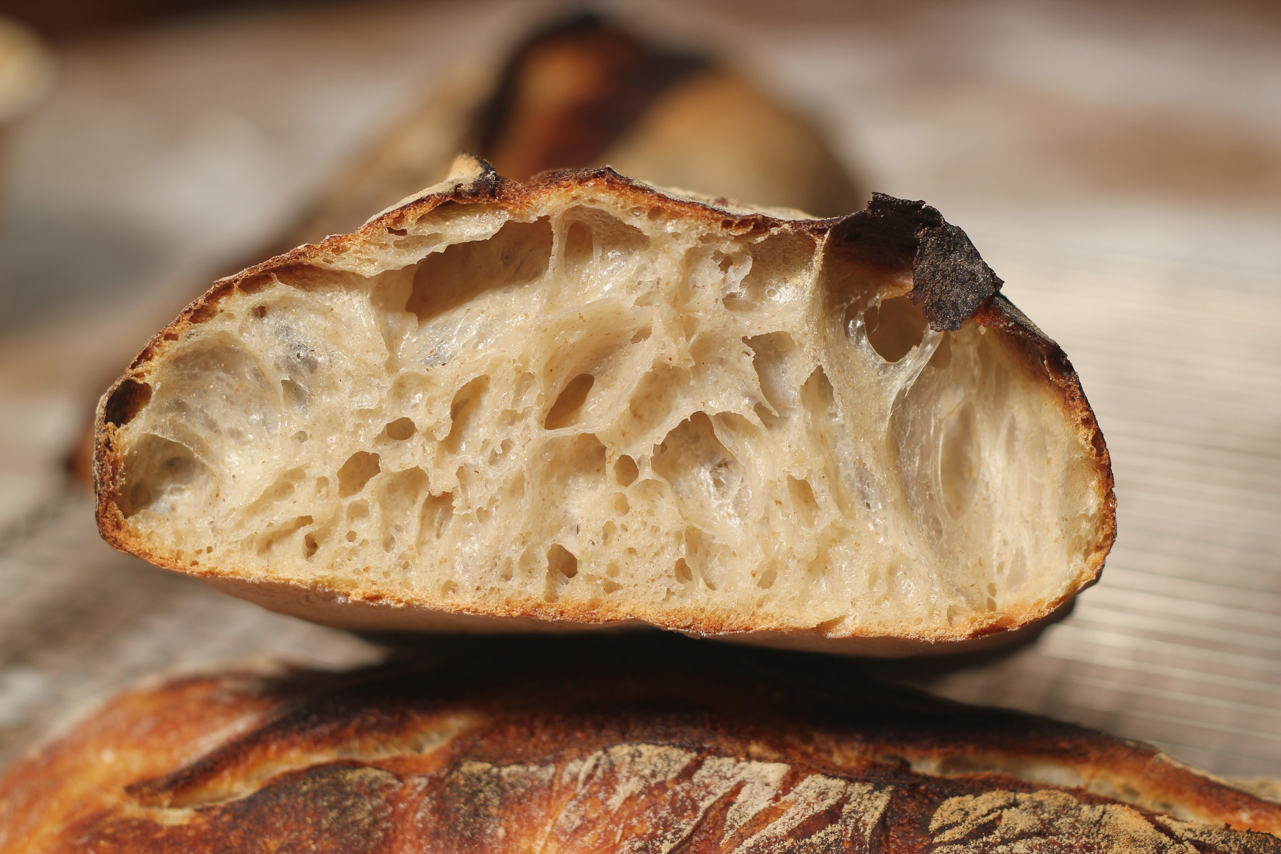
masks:
[(446, 640), (135, 691), (0, 780), (0, 854), (1281, 853), (1281, 804), (1150, 746), (729, 650)]

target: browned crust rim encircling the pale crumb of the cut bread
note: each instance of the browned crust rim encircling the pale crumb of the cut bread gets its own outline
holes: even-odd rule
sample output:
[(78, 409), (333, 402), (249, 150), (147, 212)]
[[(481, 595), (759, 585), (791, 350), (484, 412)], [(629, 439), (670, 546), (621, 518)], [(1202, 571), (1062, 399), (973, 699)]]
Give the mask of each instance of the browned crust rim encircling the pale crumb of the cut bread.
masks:
[[(374, 270), (380, 248), (389, 246), (415, 222), (436, 210), (488, 205), (519, 213), (582, 191), (598, 191), (608, 193), (621, 205), (634, 204), (638, 209), (661, 210), (667, 216), (694, 219), (722, 233), (751, 236), (787, 229), (794, 234), (810, 236), (825, 245), (825, 251), (833, 257), (848, 256), (853, 262), (875, 268), (886, 275), (910, 275), (911, 289), (906, 296), (924, 315), (930, 329), (957, 330), (967, 321), (976, 321), (980, 332), (994, 330), (1006, 337), (1022, 353), (1026, 366), (1038, 378), (1036, 382), (1052, 393), (1070, 430), (1088, 448), (1094, 493), (1090, 499), (1102, 510), (1084, 568), (1068, 589), (1056, 592), (1017, 613), (998, 612), (944, 629), (906, 626), (871, 636), (830, 626), (799, 631), (779, 629), (762, 625), (749, 615), (735, 617), (697, 611), (680, 615), (680, 620), (673, 624), (670, 617), (643, 609), (617, 612), (607, 607), (566, 603), (478, 609), (432, 602), (424, 608), (423, 602), (398, 599), (387, 589), (339, 590), (324, 583), (300, 588), (295, 583), (282, 584), (279, 580), (236, 572), (234, 568), (228, 571), (227, 566), (214, 570), (158, 549), (131, 529), (120, 510), (124, 474), (118, 433), (147, 405), (151, 394), (149, 379), (158, 360), (188, 330), (218, 315), (225, 300), (238, 293), (257, 292), (286, 278), (296, 283), (306, 282), (323, 275), (324, 270)], [(567, 620), (580, 625), (640, 621), (694, 634), (740, 632), (743, 640), (752, 643), (867, 654), (911, 654), (931, 649), (931, 644), (938, 641), (972, 641), (993, 632), (1034, 624), (1061, 609), (1076, 592), (1097, 581), (1116, 535), (1111, 460), (1080, 380), (1058, 344), (999, 293), (1000, 286), (1002, 280), (981, 260), (965, 233), (948, 224), (934, 207), (920, 201), (875, 193), (865, 210), (848, 216), (813, 219), (799, 211), (755, 209), (725, 198), (712, 200), (681, 191), (658, 189), (625, 178), (610, 168), (544, 173), (530, 182), (519, 183), (500, 177), (482, 160), (461, 156), (445, 183), (402, 200), (356, 232), (300, 246), (216, 282), (173, 324), (151, 339), (99, 406), (94, 465), (99, 528), (113, 547), (158, 566), (206, 576), (218, 586), (273, 609), (352, 629), (566, 630), (574, 626), (551, 626), (539, 621)], [(460, 620), (468, 615), (477, 618)], [(956, 649), (957, 645), (952, 644), (952, 648)]]

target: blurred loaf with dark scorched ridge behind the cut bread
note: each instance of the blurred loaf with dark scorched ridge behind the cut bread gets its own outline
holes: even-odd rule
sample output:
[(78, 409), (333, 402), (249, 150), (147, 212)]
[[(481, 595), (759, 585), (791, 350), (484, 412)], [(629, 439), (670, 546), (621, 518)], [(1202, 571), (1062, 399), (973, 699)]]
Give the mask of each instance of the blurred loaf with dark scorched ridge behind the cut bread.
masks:
[(430, 97), (343, 170), (282, 251), (350, 232), (439, 182), (459, 151), (518, 181), (611, 164), (651, 183), (820, 216), (867, 198), (821, 129), (752, 79), (623, 20), (578, 14), (433, 81)]

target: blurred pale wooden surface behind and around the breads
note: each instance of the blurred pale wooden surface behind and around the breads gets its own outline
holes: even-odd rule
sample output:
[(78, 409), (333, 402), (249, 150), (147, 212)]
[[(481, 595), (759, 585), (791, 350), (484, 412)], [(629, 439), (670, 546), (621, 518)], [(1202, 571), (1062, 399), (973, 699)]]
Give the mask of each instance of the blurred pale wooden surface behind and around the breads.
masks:
[[(611, 4), (623, 10), (633, 4)], [(1281, 23), (1268, 6), (648, 4), (965, 228), (1068, 352), (1112, 448), (1103, 580), (930, 690), (1281, 777)], [(894, 9), (893, 13), (889, 9)], [(530, 4), (296, 6), (69, 45), (13, 136), (0, 243), (0, 762), (113, 690), (378, 649), (115, 554), (59, 462), (88, 401), (231, 259)]]

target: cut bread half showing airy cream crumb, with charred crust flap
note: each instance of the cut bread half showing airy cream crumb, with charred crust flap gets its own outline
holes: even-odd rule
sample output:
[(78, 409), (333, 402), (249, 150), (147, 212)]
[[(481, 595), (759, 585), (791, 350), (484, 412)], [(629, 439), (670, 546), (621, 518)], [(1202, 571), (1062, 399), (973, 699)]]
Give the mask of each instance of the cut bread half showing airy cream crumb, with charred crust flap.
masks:
[(99, 526), (351, 629), (976, 639), (1116, 531), (1077, 378), (999, 287), (922, 202), (816, 220), (461, 157), (151, 341), (99, 407)]

